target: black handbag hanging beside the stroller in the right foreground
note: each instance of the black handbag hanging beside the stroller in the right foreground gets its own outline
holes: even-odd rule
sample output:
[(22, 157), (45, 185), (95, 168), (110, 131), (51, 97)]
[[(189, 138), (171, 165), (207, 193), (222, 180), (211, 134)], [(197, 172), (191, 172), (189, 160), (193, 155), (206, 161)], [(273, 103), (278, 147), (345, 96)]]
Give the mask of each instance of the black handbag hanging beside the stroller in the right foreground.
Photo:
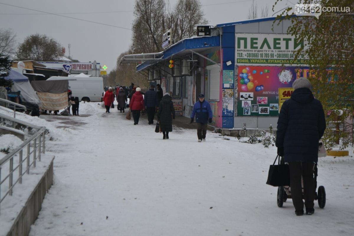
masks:
[[(275, 165), (276, 159), (278, 159), (278, 165)], [(284, 159), (281, 160), (280, 156), (276, 156), (273, 165), (269, 166), (267, 183), (269, 185), (278, 186), (290, 186), (290, 170), (289, 165), (284, 164)]]

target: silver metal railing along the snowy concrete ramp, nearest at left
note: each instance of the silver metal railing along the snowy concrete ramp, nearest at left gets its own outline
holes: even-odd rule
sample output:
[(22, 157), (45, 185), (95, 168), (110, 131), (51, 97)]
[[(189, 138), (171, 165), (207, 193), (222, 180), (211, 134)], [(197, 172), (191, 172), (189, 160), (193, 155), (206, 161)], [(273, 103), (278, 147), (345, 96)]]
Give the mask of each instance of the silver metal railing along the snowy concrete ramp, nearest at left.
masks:
[[(12, 195), (13, 193), (13, 187), (17, 184), (20, 183), (22, 184), (22, 177), (25, 173), (29, 174), (29, 169), (31, 166), (34, 168), (36, 167), (36, 161), (41, 161), (41, 154), (45, 153), (45, 133), (46, 133), (46, 128), (45, 127), (38, 127), (34, 125), (30, 125), (27, 122), (20, 121), (17, 119), (13, 119), (12, 117), (6, 116), (1, 114), (1, 117), (5, 119), (10, 118), (14, 123), (21, 123), (28, 125), (31, 128), (38, 129), (32, 136), (30, 136), (27, 140), (25, 140), (21, 145), (19, 145), (15, 150), (7, 154), (5, 157), (0, 159), (0, 180), (1, 180), (1, 169), (5, 165), (5, 163), (9, 163), (9, 171), (8, 174), (5, 176), (4, 179), (1, 180), (0, 182), (0, 190), (1, 190), (1, 184), (3, 184), (7, 179), (8, 179), (8, 190), (4, 194), (4, 196), (0, 196), (0, 203), (5, 199), (7, 195)], [(27, 147), (27, 153), (23, 154), (23, 149)], [(32, 148), (32, 151), (31, 151)], [(19, 154), (19, 162), (17, 166), (13, 166), (13, 159), (15, 156)], [(25, 158), (23, 159), (23, 155), (25, 155)], [(33, 156), (32, 162), (30, 161), (30, 157)], [(22, 169), (22, 165), (24, 162), (27, 162), (26, 168)], [(14, 180), (13, 174), (15, 171), (18, 169), (18, 178)], [(0, 191), (1, 195), (1, 191)]]

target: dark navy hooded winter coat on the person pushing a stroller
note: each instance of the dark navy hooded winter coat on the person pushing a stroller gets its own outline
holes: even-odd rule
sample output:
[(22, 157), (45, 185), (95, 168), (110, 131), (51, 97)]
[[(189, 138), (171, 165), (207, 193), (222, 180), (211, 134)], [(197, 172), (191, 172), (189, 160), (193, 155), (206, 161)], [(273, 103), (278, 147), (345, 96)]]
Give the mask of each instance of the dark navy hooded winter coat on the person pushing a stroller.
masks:
[(318, 143), (326, 129), (322, 104), (308, 88), (296, 89), (281, 107), (275, 145), (284, 161), (318, 161)]

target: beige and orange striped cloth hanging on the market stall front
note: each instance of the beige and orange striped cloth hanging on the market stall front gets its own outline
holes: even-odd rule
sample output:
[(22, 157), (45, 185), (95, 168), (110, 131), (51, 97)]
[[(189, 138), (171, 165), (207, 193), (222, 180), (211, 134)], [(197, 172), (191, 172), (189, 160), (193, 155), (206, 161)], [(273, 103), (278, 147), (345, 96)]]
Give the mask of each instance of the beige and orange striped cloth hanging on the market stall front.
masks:
[(43, 110), (61, 110), (68, 107), (68, 92), (64, 93), (44, 93), (37, 92), (42, 104), (39, 107)]

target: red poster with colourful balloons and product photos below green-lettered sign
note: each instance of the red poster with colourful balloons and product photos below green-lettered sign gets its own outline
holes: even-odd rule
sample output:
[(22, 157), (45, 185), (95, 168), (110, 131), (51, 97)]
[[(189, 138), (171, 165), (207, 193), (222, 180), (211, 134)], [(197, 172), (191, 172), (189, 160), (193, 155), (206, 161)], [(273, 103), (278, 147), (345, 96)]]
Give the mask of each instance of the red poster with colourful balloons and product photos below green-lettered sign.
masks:
[(295, 67), (239, 66), (238, 116), (278, 116), (279, 88), (292, 87)]

